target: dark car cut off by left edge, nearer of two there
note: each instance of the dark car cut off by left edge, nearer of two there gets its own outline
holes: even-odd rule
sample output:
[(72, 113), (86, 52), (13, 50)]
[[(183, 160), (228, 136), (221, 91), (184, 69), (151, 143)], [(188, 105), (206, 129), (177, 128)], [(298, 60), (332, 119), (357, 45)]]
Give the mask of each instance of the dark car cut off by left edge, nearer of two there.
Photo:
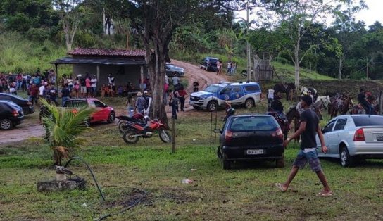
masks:
[(12, 101), (0, 101), (0, 130), (11, 130), (23, 119), (23, 108)]

